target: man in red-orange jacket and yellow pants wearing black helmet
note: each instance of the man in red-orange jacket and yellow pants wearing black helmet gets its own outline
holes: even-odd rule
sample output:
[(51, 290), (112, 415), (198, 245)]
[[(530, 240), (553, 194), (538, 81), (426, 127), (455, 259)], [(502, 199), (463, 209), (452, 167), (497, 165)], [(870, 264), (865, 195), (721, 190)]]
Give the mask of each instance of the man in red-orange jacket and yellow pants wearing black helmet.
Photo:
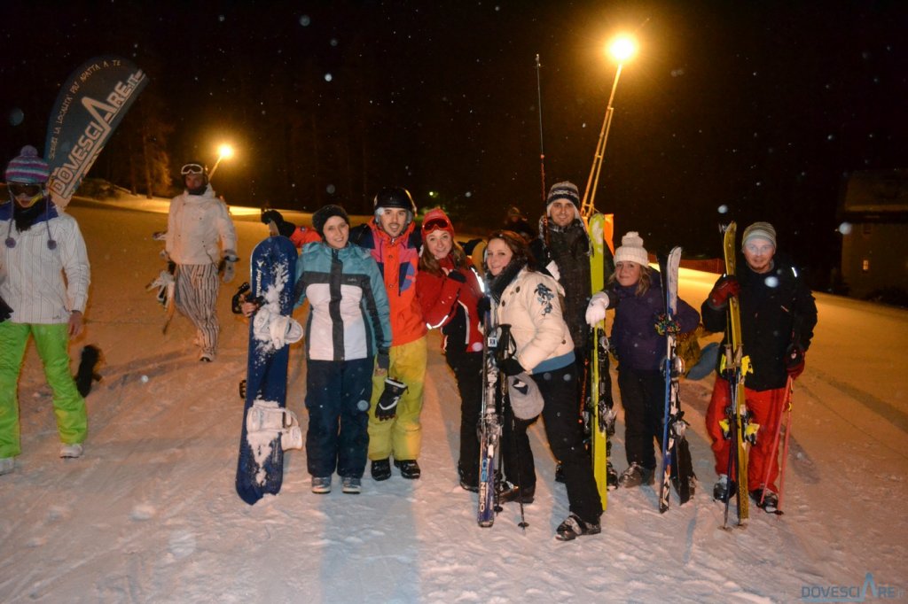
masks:
[[(419, 229), (413, 221), (416, 204), (402, 187), (382, 189), (375, 196), (375, 216), (350, 231), (350, 241), (370, 251), (388, 293), (392, 341), (388, 356), (379, 355), (372, 377), (369, 412), (370, 472), (376, 481), (391, 476), (390, 457), (400, 475), (415, 480), (420, 476), (419, 450), (422, 446), (423, 381), (426, 378), (426, 324), (416, 297), (419, 265)], [(392, 397), (379, 409), (386, 377), (403, 384), (403, 394)], [(404, 390), (405, 389), (405, 390)]]

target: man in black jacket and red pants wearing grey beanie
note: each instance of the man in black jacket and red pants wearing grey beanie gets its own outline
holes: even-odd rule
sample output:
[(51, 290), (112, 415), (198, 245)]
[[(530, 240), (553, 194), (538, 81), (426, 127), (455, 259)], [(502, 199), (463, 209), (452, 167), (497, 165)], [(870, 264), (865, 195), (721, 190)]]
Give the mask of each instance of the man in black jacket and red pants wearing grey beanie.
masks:
[[(814, 296), (791, 261), (776, 254), (775, 245), (775, 228), (770, 223), (755, 222), (747, 227), (741, 238), (744, 266), (736, 264), (741, 267), (736, 276), (720, 277), (700, 309), (706, 329), (720, 332), (725, 331), (728, 298), (735, 296), (740, 303), (741, 341), (753, 370), (745, 374), (745, 405), (751, 424), (760, 426), (747, 458), (747, 491), (766, 511), (778, 506), (775, 479), (779, 463), (772, 449), (785, 386), (789, 376), (795, 379), (804, 371), (804, 355), (816, 326)], [(723, 346), (727, 340), (726, 333)], [(719, 424), (729, 397), (730, 385), (717, 371), (706, 410), (706, 431), (713, 441), (719, 476), (713, 495), (723, 502), (737, 488), (735, 477), (726, 474), (731, 443)], [(769, 478), (764, 482), (767, 470)]]

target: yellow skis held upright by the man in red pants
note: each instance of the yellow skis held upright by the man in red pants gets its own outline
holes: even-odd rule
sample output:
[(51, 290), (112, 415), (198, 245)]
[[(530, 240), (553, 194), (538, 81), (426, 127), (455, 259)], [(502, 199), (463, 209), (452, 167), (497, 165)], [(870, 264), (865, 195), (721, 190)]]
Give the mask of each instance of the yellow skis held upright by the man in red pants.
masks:
[[(725, 229), (725, 274), (735, 275), (737, 247), (735, 245), (735, 223)], [(750, 359), (744, 356), (744, 345), (741, 341), (741, 307), (737, 297), (728, 299), (728, 340), (725, 345), (725, 357), (722, 373), (731, 388), (727, 421), (729, 438), (732, 446), (729, 449), (727, 475), (729, 481), (735, 481), (735, 503), (738, 512), (738, 525), (743, 525), (750, 516), (750, 502), (747, 499), (747, 450), (745, 434), (748, 431), (747, 412), (745, 408), (744, 380), (750, 372)], [(724, 526), (728, 525), (728, 507), (731, 495), (725, 502)]]

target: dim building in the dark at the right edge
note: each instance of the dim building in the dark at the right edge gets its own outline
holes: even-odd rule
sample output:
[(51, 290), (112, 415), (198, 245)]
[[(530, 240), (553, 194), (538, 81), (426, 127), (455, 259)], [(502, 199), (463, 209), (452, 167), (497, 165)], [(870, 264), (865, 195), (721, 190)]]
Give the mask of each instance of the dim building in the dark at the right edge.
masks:
[(848, 295), (908, 292), (908, 170), (853, 172), (844, 183), (839, 219)]

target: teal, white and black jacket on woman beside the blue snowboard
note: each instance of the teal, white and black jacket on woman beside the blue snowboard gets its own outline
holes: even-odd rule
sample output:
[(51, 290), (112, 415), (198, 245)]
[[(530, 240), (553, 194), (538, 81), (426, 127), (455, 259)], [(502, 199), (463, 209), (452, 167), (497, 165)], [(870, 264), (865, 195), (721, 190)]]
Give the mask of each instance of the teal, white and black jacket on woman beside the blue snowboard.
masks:
[(306, 357), (346, 361), (387, 353), (391, 346), (388, 295), (369, 251), (303, 246), (296, 264), (296, 306), (309, 300)]

